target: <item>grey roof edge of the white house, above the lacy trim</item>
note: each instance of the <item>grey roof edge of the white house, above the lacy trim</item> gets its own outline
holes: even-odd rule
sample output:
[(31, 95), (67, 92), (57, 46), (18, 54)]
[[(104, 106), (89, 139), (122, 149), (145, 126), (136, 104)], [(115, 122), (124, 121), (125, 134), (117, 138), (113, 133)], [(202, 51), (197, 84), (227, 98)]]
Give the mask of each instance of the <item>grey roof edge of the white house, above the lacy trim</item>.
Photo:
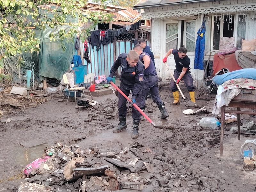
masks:
[(220, 0), (140, 0), (139, 3), (133, 6), (133, 9), (143, 9), (146, 7), (187, 4), (187, 3), (201, 3), (207, 1), (220, 1)]

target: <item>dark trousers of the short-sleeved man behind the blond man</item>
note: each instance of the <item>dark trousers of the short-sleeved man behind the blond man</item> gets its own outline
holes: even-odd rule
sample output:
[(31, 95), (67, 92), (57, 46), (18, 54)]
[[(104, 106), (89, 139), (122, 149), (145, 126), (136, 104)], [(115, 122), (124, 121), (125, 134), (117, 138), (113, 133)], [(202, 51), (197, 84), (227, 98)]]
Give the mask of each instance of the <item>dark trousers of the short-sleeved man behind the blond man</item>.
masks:
[(159, 89), (158, 89), (158, 77), (157, 75), (155, 76), (150, 76), (150, 77), (145, 77), (143, 79), (143, 85), (142, 85), (142, 90), (141, 90), (141, 101), (140, 101), (140, 106), (144, 107), (146, 105), (146, 99), (148, 97), (148, 92), (150, 91), (151, 97), (154, 103), (157, 105), (162, 104), (163, 101), (159, 97)]

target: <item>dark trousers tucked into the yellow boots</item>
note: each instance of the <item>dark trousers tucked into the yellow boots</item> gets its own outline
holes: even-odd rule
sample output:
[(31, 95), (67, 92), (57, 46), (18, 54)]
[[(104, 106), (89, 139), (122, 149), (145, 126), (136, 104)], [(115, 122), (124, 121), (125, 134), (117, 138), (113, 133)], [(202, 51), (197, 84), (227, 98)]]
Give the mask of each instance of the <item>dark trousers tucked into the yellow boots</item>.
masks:
[[(174, 76), (176, 81), (179, 78), (180, 73), (181, 72), (177, 71), (176, 69), (174, 70), (173, 76)], [(193, 85), (193, 78), (192, 78), (192, 76), (190, 74), (190, 71), (186, 71), (186, 73), (185, 73), (185, 75), (183, 76), (182, 79), (184, 80), (184, 82), (186, 84), (186, 87), (187, 87), (189, 92), (195, 91), (195, 87)], [(178, 91), (178, 87), (176, 86), (176, 84), (175, 84), (175, 82), (173, 80), (171, 81), (171, 89), (172, 89), (172, 92)]]

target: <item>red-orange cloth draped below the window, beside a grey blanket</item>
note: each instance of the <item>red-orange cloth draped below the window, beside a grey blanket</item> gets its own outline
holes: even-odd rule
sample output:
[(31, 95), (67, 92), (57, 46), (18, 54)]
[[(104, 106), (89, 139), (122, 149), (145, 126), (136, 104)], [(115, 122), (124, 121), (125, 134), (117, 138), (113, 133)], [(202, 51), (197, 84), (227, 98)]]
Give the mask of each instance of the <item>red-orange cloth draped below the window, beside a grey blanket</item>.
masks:
[(223, 68), (227, 68), (230, 72), (242, 69), (237, 61), (236, 61), (236, 54), (231, 53), (227, 55), (218, 55), (218, 53), (214, 54), (213, 57), (213, 73), (212, 77)]

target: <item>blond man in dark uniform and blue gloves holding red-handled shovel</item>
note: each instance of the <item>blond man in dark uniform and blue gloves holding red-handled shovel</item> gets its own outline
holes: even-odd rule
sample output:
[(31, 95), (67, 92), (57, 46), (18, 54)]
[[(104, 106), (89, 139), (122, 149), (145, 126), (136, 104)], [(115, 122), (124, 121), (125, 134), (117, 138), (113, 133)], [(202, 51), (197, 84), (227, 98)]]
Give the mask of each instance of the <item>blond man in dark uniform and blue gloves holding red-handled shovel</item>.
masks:
[[(127, 53), (122, 53), (119, 55), (117, 60), (114, 62), (112, 68), (110, 69), (110, 75), (107, 77), (108, 83), (112, 81), (116, 70), (121, 66), (121, 78), (120, 78), (120, 90), (124, 92), (125, 95), (129, 96), (130, 91), (132, 91), (132, 103), (135, 103), (140, 107), (141, 100), (141, 89), (144, 78), (144, 65), (139, 60), (139, 55), (135, 51), (130, 51)], [(127, 128), (126, 125), (126, 102), (127, 100), (120, 93), (118, 94), (118, 117), (119, 124), (114, 133), (121, 132)], [(139, 124), (140, 124), (140, 112), (132, 106), (132, 118), (133, 118), (133, 132), (132, 138), (136, 139), (139, 136)]]

